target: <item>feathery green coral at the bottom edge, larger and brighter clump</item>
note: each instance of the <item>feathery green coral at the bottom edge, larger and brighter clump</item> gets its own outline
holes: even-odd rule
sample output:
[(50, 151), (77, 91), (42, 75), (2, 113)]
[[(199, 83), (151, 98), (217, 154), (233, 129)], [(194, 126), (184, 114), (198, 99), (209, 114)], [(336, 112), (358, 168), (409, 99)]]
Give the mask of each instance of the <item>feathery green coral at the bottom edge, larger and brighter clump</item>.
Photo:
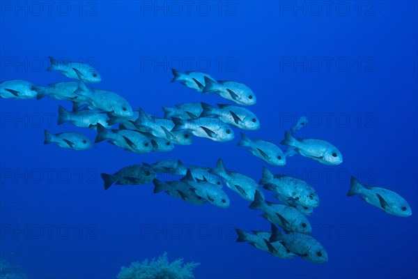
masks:
[(176, 259), (169, 263), (167, 252), (158, 259), (144, 262), (132, 262), (130, 267), (122, 267), (118, 279), (189, 279), (194, 278), (192, 271), (199, 263), (188, 262), (183, 264), (183, 259)]

